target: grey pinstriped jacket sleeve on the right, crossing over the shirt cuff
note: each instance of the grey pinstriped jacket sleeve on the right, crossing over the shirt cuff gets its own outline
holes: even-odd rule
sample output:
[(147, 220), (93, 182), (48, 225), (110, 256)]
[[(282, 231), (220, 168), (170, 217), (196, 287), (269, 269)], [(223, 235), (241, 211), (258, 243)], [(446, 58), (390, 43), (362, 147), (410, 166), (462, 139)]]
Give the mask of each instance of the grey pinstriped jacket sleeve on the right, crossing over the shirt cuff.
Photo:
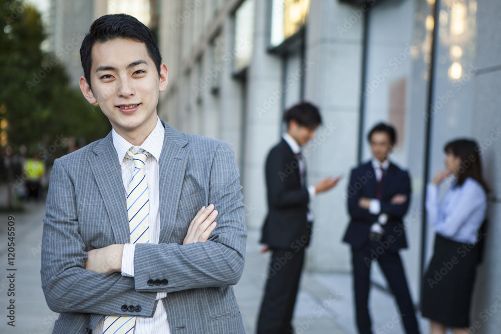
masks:
[[(136, 290), (174, 292), (238, 282), (243, 272), (247, 237), (238, 177), (233, 151), (229, 144), (221, 142), (210, 168), (209, 203), (219, 212), (210, 239), (186, 245), (136, 244)], [(152, 285), (157, 279), (166, 279), (167, 283)]]

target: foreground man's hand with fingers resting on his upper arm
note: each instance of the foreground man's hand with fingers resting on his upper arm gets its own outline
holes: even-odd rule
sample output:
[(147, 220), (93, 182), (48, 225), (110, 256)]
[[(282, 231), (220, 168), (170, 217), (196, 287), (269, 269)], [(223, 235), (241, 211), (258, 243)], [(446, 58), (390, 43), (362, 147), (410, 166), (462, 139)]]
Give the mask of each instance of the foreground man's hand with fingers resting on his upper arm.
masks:
[(191, 221), (184, 238), (183, 245), (194, 242), (205, 242), (217, 223), (214, 221), (219, 213), (214, 210), (214, 204), (202, 208)]

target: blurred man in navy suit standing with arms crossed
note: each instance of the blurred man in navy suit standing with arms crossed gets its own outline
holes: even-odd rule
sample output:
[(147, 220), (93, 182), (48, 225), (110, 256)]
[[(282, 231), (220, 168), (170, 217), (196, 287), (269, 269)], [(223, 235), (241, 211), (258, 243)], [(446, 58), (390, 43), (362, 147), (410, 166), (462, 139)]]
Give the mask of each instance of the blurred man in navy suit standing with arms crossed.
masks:
[(419, 333), (414, 306), (398, 250), (407, 247), (402, 218), (409, 208), (409, 174), (388, 160), (395, 129), (377, 124), (368, 141), (373, 158), (351, 171), (350, 224), (344, 241), (351, 245), (355, 309), (360, 334), (371, 334), (368, 299), (372, 260), (379, 262), (400, 308), (408, 334)]

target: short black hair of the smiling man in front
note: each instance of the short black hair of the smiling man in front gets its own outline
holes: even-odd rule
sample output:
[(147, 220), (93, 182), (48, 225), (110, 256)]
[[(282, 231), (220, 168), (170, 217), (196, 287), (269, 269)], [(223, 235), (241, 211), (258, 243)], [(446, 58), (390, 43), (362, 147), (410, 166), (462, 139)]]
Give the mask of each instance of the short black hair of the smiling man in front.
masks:
[(158, 74), (160, 75), (162, 56), (160, 55), (156, 40), (148, 27), (130, 15), (104, 15), (92, 23), (80, 47), (80, 61), (82, 62), (84, 77), (89, 87), (91, 87), (90, 72), (92, 67), (92, 47), (96, 43), (104, 43), (117, 38), (144, 43), (148, 55), (153, 60)]

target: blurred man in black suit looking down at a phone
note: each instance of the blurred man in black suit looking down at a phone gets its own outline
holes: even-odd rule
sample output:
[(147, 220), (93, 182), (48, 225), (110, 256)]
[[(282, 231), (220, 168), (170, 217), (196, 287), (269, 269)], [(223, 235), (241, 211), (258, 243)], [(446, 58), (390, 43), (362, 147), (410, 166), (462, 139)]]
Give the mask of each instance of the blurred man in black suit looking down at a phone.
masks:
[(266, 160), (268, 216), (263, 226), (263, 252), (272, 250), (268, 281), (258, 320), (258, 334), (292, 333), (292, 314), (298, 293), (305, 247), (311, 236), (310, 200), (333, 188), (339, 178), (321, 180), (307, 187), (301, 147), (321, 123), (317, 107), (298, 104), (284, 115), (288, 125), (282, 141)]

